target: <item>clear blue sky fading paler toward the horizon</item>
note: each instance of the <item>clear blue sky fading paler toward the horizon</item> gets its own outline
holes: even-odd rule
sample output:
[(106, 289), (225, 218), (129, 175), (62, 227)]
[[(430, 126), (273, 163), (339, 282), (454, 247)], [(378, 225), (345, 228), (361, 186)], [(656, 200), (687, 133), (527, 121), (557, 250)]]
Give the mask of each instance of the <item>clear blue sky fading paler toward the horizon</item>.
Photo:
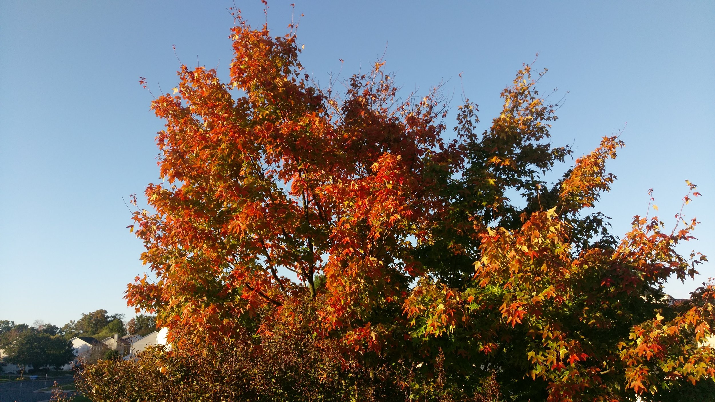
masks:
[[(270, 1), (275, 34), (290, 2)], [(260, 1), (236, 4), (253, 25), (265, 21)], [(0, 319), (61, 326), (98, 308), (133, 314), (122, 296), (146, 268), (122, 196), (158, 180), (163, 126), (137, 81), (147, 77), (154, 94), (175, 86), (174, 44), (184, 64), (218, 65), (226, 77), (230, 6), (0, 0)], [(714, 1), (295, 0), (295, 9), (305, 14), (302, 62), (318, 80), (340, 71), (339, 59), (345, 75), (385, 53), (405, 90), (445, 81), (456, 106), (463, 85), (485, 122), (538, 53), (543, 92), (568, 91), (556, 144), (583, 154), (628, 123), (608, 166), (618, 181), (599, 206), (616, 233), (646, 213), (650, 188), (674, 223), (689, 179), (703, 196), (685, 213), (702, 224), (681, 250), (715, 258)], [(712, 264), (700, 271), (666, 291), (687, 297), (715, 276)]]

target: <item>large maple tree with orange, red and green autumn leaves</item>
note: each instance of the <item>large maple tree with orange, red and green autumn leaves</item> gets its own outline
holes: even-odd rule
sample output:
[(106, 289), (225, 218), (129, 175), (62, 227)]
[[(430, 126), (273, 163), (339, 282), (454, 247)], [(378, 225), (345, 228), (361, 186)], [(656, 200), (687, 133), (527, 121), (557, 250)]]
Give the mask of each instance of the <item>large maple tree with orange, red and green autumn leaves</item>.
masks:
[(556, 105), (531, 66), (482, 132), (464, 99), (448, 141), (438, 89), (400, 101), (379, 61), (337, 96), (312, 86), (294, 31), (237, 18), (228, 83), (181, 66), (152, 102), (168, 184), (149, 184), (155, 212), (132, 230), (158, 281), (137, 277), (127, 299), (177, 350), (290, 333), (327, 362), (321, 345), (337, 345), (365, 369), (340, 385), (352, 398), (360, 376), (414, 399), (473, 398), (493, 378), (514, 401), (626, 401), (715, 376), (700, 346), (712, 287), (686, 307), (662, 292), (705, 261), (676, 251), (697, 221), (636, 216), (619, 240), (589, 213), (616, 179), (615, 136), (549, 184), (571, 149), (548, 142)]

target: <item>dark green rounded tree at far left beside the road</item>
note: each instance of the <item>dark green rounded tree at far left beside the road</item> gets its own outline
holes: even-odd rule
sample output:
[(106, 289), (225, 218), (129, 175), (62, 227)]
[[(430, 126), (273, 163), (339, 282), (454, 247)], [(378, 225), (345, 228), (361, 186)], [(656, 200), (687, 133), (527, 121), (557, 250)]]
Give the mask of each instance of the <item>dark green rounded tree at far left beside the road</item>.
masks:
[(47, 333), (39, 333), (32, 329), (27, 329), (13, 339), (5, 347), (7, 363), (16, 364), (24, 373), (27, 366), (32, 366), (34, 370), (39, 370), (44, 366), (55, 367), (64, 366), (74, 358), (72, 346), (69, 341), (59, 336), (50, 336)]

